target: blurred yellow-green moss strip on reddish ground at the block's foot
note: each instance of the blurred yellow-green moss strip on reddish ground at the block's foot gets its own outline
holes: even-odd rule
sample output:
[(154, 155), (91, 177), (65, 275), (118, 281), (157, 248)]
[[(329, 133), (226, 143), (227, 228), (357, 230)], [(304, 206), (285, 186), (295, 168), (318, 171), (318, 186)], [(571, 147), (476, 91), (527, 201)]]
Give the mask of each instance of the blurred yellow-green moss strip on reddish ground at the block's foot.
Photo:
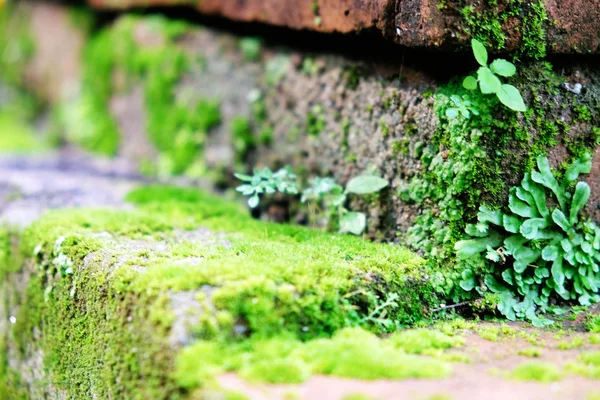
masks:
[[(205, 362), (199, 365), (199, 359)], [(270, 383), (301, 383), (312, 374), (372, 380), (441, 378), (451, 372), (444, 362), (407, 355), (392, 341), (357, 328), (306, 343), (285, 338), (199, 342), (181, 353), (177, 365), (178, 381), (189, 388), (207, 385), (225, 370)]]

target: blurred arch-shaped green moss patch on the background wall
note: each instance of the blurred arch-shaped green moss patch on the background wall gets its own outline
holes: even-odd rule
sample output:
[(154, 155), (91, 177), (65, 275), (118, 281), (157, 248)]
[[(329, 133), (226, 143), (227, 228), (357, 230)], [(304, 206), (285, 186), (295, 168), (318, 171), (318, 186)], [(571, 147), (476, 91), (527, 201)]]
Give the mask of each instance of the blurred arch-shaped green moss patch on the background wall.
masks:
[[(139, 26), (157, 37), (156, 45), (136, 42), (134, 31)], [(109, 110), (111, 98), (141, 86), (148, 135), (161, 153), (155, 172), (180, 174), (200, 162), (206, 135), (220, 123), (221, 115), (214, 101), (176, 96), (183, 74), (203, 63), (177, 44), (189, 29), (181, 21), (128, 16), (96, 33), (84, 51), (80, 96), (56, 113), (67, 139), (91, 151), (116, 154), (120, 132)], [(117, 83), (115, 76), (123, 82)]]

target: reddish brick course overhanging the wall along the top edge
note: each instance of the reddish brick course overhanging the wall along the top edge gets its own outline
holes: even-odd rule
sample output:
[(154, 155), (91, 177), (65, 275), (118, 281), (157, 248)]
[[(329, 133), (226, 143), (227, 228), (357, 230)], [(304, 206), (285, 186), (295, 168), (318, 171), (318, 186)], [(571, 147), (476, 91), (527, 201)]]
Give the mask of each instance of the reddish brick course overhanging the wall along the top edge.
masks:
[[(440, 0), (88, 0), (98, 8), (123, 9), (150, 6), (192, 6), (207, 15), (237, 21), (262, 22), (293, 29), (319, 32), (376, 31), (396, 43), (411, 47), (455, 47), (470, 37), (470, 27), (461, 12), (472, 6), (475, 12), (490, 8), (502, 11), (509, 2), (487, 6), (480, 1)], [(485, 2), (484, 2), (485, 3)], [(519, 5), (523, 12), (503, 22), (505, 49), (523, 42), (522, 32), (532, 24), (525, 16), (535, 2)], [(548, 20), (541, 41), (550, 52), (597, 52), (600, 37), (598, 0), (548, 0)], [(479, 17), (475, 17), (480, 19)], [(482, 21), (491, 24), (492, 21)], [(521, 26), (521, 29), (517, 29)], [(485, 30), (485, 29), (484, 29)]]

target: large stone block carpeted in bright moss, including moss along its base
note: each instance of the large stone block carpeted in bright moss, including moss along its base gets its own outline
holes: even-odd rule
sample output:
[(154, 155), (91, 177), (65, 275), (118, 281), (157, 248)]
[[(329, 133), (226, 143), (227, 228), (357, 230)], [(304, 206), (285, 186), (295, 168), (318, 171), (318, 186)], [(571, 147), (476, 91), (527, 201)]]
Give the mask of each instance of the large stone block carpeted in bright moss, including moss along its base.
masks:
[[(132, 192), (129, 200), (135, 210), (50, 212), (19, 234), (18, 247), (15, 240), (7, 245), (8, 233), (0, 236), (3, 314), (15, 317), (12, 329), (2, 330), (3, 354), (24, 368), (40, 358), (39, 372), (46, 371), (44, 381), (27, 381), (31, 397), (185, 398), (204, 385), (202, 377), (222, 370), (223, 358), (211, 351), (229, 348), (233, 363), (248, 346), (257, 362), (238, 365), (249, 379), (449, 372), (440, 361), (402, 355), (400, 339), (379, 344), (366, 331), (300, 342), (349, 326), (381, 331), (426, 317), (436, 299), (422, 260), (409, 251), (261, 223), (237, 204), (196, 190), (150, 187)], [(26, 260), (18, 269), (7, 266), (16, 259), (7, 254), (15, 251)], [(385, 314), (375, 312), (392, 292), (400, 301)], [(375, 317), (394, 324), (375, 323)], [(330, 357), (347, 341), (359, 352), (354, 359), (319, 361), (319, 354)], [(193, 342), (178, 358), (178, 350)], [(361, 354), (369, 353), (365, 343), (375, 346), (372, 363), (380, 371), (369, 376), (357, 375), (364, 371), (357, 368)], [(299, 358), (284, 360), (273, 346)], [(398, 357), (390, 358), (388, 347), (398, 349)], [(188, 371), (185, 354), (197, 360), (198, 352), (202, 365), (193, 363), (195, 370)], [(269, 377), (269, 368), (258, 362), (265, 352), (289, 367), (288, 375)], [(402, 368), (380, 365), (382, 359)], [(13, 387), (11, 376), (19, 371), (7, 370), (6, 361), (1, 368), (0, 381)]]

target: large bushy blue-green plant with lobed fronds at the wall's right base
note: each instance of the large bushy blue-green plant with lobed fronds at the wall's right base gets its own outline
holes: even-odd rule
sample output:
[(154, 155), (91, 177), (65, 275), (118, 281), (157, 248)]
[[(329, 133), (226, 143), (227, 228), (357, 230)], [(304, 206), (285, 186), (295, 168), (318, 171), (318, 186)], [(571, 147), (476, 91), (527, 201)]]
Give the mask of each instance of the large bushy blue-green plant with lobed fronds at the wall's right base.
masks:
[[(537, 313), (551, 311), (552, 298), (581, 305), (600, 300), (600, 228), (579, 215), (590, 187), (576, 181), (591, 170), (589, 154), (567, 168), (561, 183), (546, 157), (538, 157), (537, 167), (511, 188), (508, 210), (482, 206), (477, 224), (466, 228), (472, 238), (455, 249), (467, 266), (460, 282), (464, 290), (498, 293), (498, 309), (508, 319), (544, 326), (552, 321)], [(501, 281), (487, 274), (477, 285), (476, 271), (490, 262)]]

